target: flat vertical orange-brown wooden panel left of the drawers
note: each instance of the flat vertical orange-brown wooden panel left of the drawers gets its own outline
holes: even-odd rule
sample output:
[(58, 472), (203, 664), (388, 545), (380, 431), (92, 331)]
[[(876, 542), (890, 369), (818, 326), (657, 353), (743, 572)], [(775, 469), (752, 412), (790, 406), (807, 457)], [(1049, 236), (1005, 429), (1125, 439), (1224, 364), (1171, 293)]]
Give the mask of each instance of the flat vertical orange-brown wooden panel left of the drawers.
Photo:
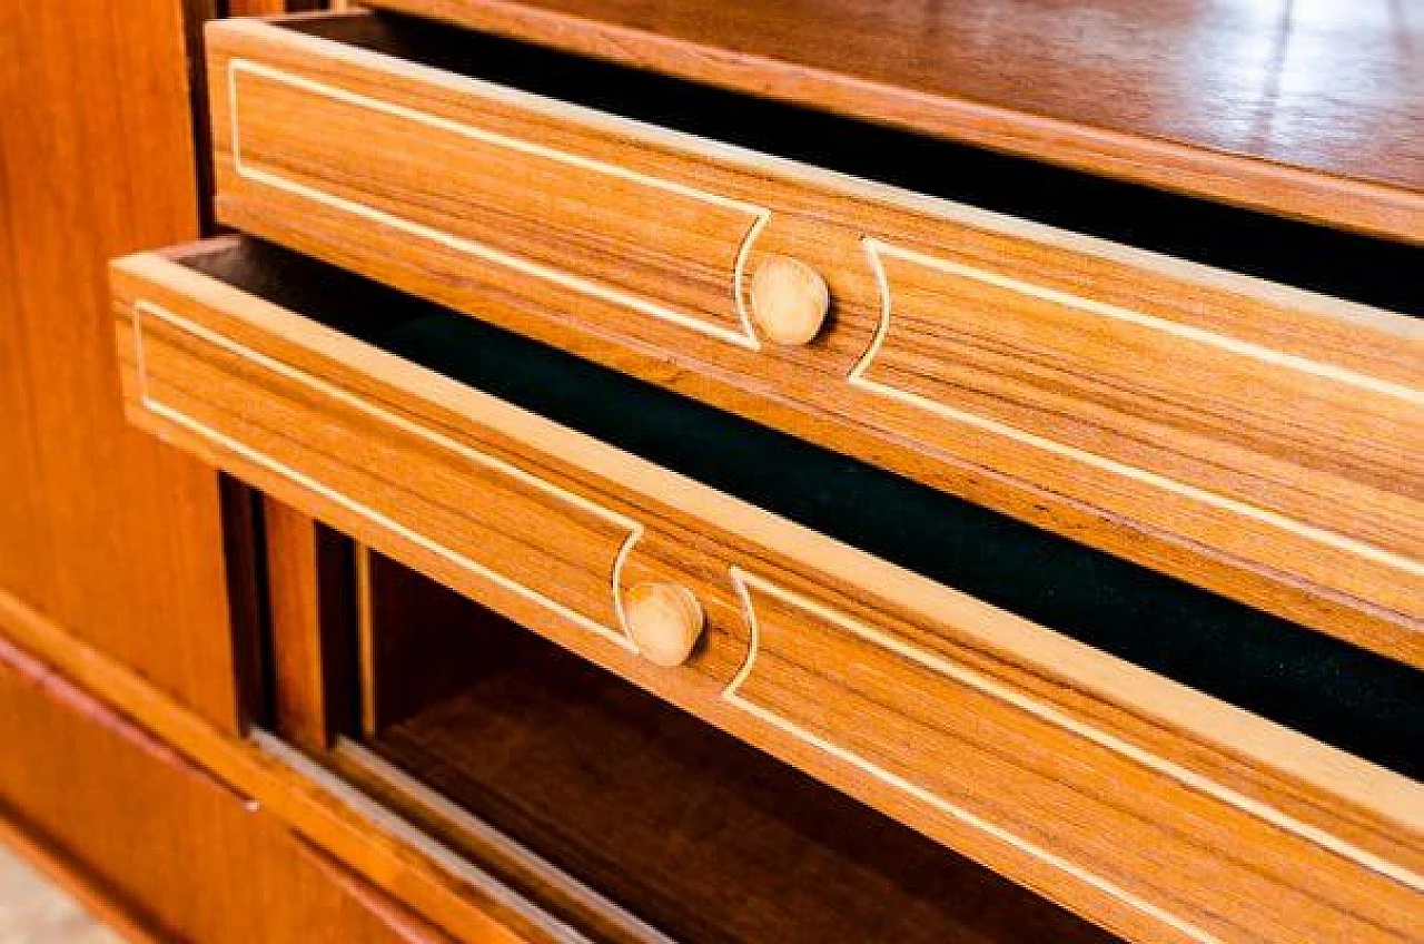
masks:
[(104, 271), (197, 235), (185, 6), (0, 0), (0, 586), (235, 730), (218, 481), (124, 424)]

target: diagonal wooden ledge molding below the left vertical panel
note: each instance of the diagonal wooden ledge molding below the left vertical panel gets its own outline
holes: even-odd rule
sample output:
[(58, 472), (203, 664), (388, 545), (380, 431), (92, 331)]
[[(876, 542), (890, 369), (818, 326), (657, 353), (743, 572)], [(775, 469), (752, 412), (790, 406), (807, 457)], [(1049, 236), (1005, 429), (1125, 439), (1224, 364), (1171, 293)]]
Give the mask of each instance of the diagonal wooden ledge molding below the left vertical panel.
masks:
[(490, 944), (580, 940), (547, 915), (530, 913), (508, 888), (473, 866), (451, 876), (389, 831), (373, 830), (350, 797), (313, 783), (255, 742), (222, 733), (3, 589), (0, 627), (70, 682), (124, 712), (201, 770), (262, 804), (298, 836), (454, 937)]

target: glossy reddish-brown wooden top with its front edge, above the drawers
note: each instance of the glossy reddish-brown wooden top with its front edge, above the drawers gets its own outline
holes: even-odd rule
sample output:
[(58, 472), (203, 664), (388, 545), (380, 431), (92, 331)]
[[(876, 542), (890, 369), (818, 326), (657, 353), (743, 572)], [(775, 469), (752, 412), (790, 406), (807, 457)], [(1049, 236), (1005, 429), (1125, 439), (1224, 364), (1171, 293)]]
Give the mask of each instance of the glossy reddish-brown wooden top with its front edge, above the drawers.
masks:
[(1420, 0), (376, 0), (1424, 242)]

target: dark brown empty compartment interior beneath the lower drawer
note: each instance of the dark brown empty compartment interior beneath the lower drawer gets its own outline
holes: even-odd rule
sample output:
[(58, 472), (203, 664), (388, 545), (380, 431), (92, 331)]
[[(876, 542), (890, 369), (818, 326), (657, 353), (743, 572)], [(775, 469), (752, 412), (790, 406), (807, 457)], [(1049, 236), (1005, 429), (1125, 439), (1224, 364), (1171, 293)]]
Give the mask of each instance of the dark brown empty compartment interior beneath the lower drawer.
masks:
[[(679, 941), (1115, 940), (375, 555), (366, 603), (362, 740), (459, 807), (436, 823), (453, 843), (493, 827)], [(440, 819), (380, 763), (362, 774)]]

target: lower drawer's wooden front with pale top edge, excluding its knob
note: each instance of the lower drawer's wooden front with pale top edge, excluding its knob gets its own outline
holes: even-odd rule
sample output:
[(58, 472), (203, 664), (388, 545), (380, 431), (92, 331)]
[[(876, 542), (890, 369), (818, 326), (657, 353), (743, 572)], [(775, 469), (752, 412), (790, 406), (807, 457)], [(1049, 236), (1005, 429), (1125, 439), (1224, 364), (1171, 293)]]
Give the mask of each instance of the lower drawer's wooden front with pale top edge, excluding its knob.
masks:
[[(1417, 924), (1417, 783), (174, 261), (114, 284), (141, 426), (1122, 934)], [(705, 612), (682, 665), (645, 585)]]

